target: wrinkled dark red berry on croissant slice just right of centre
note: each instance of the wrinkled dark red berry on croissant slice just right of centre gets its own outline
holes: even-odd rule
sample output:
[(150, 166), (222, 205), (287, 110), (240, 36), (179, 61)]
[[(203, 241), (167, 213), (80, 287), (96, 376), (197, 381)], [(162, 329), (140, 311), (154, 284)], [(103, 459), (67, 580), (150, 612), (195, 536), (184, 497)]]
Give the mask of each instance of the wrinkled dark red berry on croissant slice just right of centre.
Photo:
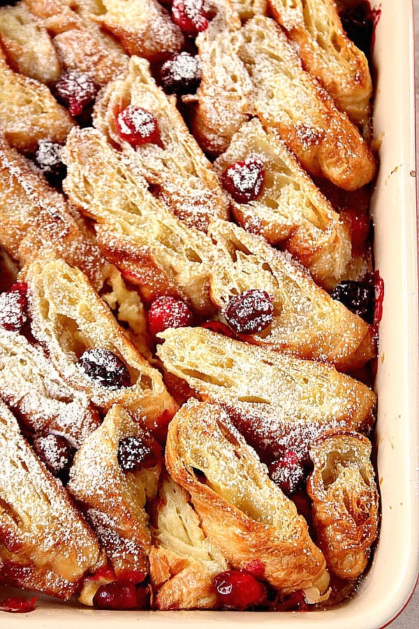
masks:
[(256, 334), (272, 323), (274, 298), (266, 291), (251, 289), (232, 297), (225, 317), (230, 328), (239, 334)]

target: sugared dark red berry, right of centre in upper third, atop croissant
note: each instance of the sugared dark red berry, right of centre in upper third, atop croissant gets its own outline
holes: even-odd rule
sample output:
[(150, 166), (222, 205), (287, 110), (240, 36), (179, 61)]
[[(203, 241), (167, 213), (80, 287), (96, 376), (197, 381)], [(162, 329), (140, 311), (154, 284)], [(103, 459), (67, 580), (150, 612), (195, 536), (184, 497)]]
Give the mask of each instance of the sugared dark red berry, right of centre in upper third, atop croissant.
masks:
[(235, 161), (221, 175), (223, 187), (237, 203), (255, 201), (263, 189), (265, 164), (258, 157), (249, 156), (244, 161)]

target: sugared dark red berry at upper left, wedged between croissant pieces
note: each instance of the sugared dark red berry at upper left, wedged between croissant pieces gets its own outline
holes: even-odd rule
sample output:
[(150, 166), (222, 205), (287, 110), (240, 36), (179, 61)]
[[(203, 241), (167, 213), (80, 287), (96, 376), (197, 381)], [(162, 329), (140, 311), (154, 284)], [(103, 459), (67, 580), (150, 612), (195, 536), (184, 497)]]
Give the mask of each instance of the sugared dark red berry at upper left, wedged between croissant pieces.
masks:
[(98, 86), (85, 72), (69, 70), (61, 74), (55, 84), (59, 100), (68, 107), (72, 116), (78, 116), (89, 107), (96, 98)]

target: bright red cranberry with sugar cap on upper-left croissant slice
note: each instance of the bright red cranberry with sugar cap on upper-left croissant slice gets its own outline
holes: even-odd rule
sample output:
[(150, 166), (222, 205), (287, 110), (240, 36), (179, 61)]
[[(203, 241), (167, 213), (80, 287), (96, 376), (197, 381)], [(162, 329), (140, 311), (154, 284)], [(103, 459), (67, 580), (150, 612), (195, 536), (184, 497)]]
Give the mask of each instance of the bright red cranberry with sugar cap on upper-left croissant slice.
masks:
[(119, 137), (132, 146), (161, 145), (159, 122), (142, 107), (128, 105), (122, 109), (115, 119), (115, 126)]

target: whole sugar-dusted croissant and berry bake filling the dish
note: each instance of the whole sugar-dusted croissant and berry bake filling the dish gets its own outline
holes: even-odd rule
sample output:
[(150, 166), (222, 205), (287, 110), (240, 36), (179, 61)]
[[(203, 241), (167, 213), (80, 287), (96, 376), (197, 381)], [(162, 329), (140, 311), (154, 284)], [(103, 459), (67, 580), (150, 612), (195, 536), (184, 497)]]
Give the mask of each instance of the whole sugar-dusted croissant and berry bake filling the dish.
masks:
[(341, 5), (1, 6), (2, 591), (308, 612), (365, 574), (378, 160)]

